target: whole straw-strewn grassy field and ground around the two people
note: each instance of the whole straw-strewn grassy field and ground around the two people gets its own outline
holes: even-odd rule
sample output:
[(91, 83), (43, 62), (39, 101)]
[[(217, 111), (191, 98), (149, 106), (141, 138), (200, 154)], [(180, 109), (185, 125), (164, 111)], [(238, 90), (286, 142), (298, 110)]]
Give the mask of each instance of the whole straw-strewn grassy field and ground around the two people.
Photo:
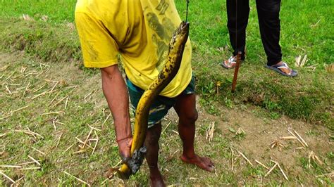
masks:
[[(180, 16), (185, 18), (185, 1), (175, 2)], [(192, 65), (197, 75), (199, 103), (205, 109), (197, 127), (197, 150), (213, 158), (216, 173), (207, 174), (178, 160), (180, 141), (173, 131), (177, 123), (171, 115), (164, 122), (159, 157), (168, 184), (333, 185), (333, 174), (328, 174), (334, 170), (334, 76), (325, 68), (334, 61), (334, 18), (330, 16), (333, 7), (333, 1), (282, 1), (283, 60), (292, 67), (297, 56), (307, 55), (308, 60), (304, 67), (294, 67), (299, 76), (290, 79), (264, 68), (266, 56), (259, 37), (256, 6), (251, 1), (247, 60), (242, 64), (236, 93), (230, 93), (233, 71), (223, 70), (219, 65), (231, 50), (225, 1), (190, 1)], [(97, 186), (106, 179), (104, 170), (119, 160), (99, 73), (81, 65), (80, 44), (73, 25), (74, 8), (74, 0), (0, 1), (0, 49), (14, 54), (0, 56), (0, 165), (18, 165), (29, 162), (30, 157), (42, 165), (23, 165), (41, 167), (28, 172), (0, 167), (0, 172), (15, 181), (24, 176), (25, 185), (78, 184), (73, 177), (77, 176)], [(23, 20), (23, 14), (33, 20)], [(235, 112), (240, 112), (241, 118), (247, 116), (247, 120), (235, 117)], [(206, 132), (212, 123), (216, 123), (215, 136), (213, 141), (207, 141)], [(78, 139), (85, 141), (89, 125), (101, 131), (92, 131), (93, 140), (80, 149)], [(273, 139), (261, 140), (254, 150), (248, 145), (263, 136), (288, 136), (289, 125), (306, 139), (309, 148), (296, 153), (298, 142), (285, 142), (283, 151), (269, 149), (259, 157), (256, 154), (263, 151), (260, 148), (268, 147)], [(237, 133), (239, 128), (246, 133)], [(99, 142), (93, 153), (97, 137)], [(289, 181), (284, 180), (279, 170), (264, 179), (266, 169), (247, 165), (231, 150), (241, 150), (252, 157), (252, 162), (262, 159), (271, 167), (274, 153)], [(320, 157), (322, 165), (309, 160), (311, 151)], [(237, 168), (232, 172), (231, 159)], [(175, 169), (178, 171), (173, 172)], [(144, 165), (125, 185), (147, 185), (147, 171)], [(124, 184), (118, 179), (105, 183)], [(0, 175), (0, 186), (7, 184), (11, 182)]]

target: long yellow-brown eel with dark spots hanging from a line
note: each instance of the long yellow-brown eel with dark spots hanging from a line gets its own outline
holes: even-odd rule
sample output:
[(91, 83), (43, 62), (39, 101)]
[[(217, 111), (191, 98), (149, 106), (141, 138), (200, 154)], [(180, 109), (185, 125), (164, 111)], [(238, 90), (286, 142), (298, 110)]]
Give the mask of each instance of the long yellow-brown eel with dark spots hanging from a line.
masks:
[(126, 160), (118, 169), (117, 173), (121, 179), (128, 179), (135, 174), (142, 165), (146, 148), (143, 146), (146, 137), (149, 108), (159, 96), (159, 93), (172, 81), (180, 69), (183, 51), (189, 35), (189, 22), (181, 22), (173, 33), (169, 43), (168, 56), (165, 65), (159, 75), (153, 80), (142, 94), (135, 112), (135, 130), (131, 146), (131, 159)]

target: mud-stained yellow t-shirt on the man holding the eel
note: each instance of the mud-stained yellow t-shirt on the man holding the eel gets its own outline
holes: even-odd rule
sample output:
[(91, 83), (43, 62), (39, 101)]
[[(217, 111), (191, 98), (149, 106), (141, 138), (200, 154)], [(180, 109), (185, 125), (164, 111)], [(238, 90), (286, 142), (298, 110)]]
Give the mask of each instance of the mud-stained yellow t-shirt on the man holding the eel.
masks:
[[(180, 22), (173, 0), (78, 0), (75, 8), (85, 67), (115, 65), (120, 53), (125, 74), (142, 89), (166, 63)], [(191, 53), (188, 39), (180, 70), (161, 96), (178, 96), (190, 83)]]

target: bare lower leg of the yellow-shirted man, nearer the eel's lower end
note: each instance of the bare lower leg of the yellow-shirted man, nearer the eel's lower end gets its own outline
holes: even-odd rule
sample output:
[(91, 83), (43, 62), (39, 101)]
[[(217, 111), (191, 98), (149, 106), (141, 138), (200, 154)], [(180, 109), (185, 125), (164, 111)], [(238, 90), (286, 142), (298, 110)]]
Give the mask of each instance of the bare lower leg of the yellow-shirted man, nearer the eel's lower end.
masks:
[(163, 177), (158, 168), (159, 155), (159, 138), (161, 134), (161, 122), (154, 124), (153, 127), (147, 129), (145, 138), (145, 146), (147, 153), (145, 155), (147, 165), (149, 165), (149, 179), (151, 186), (165, 186)]

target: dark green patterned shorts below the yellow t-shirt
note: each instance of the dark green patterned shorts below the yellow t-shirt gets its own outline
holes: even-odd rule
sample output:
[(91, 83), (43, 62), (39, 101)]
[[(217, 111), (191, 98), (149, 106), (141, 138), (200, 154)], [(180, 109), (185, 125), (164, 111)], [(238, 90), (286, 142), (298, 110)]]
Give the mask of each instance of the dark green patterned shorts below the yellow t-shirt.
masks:
[[(195, 87), (194, 80), (195, 78), (194, 76), (192, 76), (190, 83), (181, 94), (187, 95), (194, 93), (194, 87)], [(130, 95), (132, 108), (134, 109), (133, 111), (135, 111), (138, 102), (140, 101), (140, 97), (142, 96), (142, 93), (144, 93), (144, 90), (140, 89), (140, 87), (138, 86), (135, 86), (135, 84), (132, 84), (132, 82), (130, 82), (130, 79), (128, 78), (126, 79), (126, 84), (128, 85), (128, 91)], [(158, 96), (156, 100), (152, 103), (151, 108), (149, 109), (148, 128), (153, 127), (154, 124), (161, 122), (163, 117), (167, 114), (168, 110), (175, 105), (175, 102), (176, 98)]]

